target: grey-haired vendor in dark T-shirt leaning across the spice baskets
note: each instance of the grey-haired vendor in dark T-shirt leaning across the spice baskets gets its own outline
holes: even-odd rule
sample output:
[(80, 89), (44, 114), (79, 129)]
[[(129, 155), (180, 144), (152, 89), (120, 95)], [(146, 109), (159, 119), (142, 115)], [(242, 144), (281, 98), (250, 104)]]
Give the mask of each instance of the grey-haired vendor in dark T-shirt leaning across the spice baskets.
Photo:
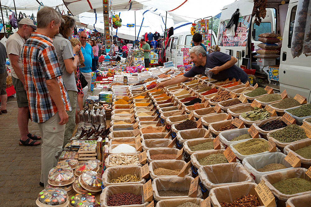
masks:
[(211, 68), (209, 70), (212, 72), (212, 79), (216, 80), (241, 80), (242, 83), (248, 81), (247, 74), (238, 66), (234, 65), (237, 59), (233, 56), (227, 55), (223, 52), (212, 52), (206, 54), (205, 50), (201, 46), (192, 47), (189, 50), (191, 61), (194, 66), (185, 74), (179, 75), (173, 79), (165, 82), (158, 83), (157, 87), (165, 87), (168, 85), (182, 83), (188, 78), (194, 77), (196, 75), (205, 75), (206, 68)]

